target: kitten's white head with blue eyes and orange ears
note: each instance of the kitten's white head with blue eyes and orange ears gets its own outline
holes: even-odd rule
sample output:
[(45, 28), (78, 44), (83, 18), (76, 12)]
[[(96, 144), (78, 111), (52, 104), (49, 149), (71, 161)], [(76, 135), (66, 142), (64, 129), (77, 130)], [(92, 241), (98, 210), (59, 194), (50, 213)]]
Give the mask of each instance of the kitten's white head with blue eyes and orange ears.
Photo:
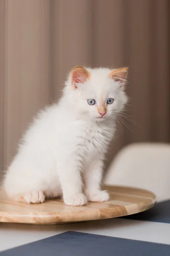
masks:
[(82, 115), (97, 121), (111, 118), (127, 103), (127, 70), (75, 67), (69, 74), (65, 93)]

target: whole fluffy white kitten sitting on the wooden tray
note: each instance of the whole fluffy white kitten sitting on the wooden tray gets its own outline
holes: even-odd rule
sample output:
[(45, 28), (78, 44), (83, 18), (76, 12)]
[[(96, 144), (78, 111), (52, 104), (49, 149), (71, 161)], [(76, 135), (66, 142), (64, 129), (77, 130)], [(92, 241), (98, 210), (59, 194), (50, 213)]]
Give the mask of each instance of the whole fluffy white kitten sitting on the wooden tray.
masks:
[(7, 170), (10, 198), (36, 204), (63, 196), (73, 206), (108, 200), (100, 188), (103, 160), (114, 116), (127, 102), (126, 78), (127, 68), (71, 71), (59, 103), (34, 119)]

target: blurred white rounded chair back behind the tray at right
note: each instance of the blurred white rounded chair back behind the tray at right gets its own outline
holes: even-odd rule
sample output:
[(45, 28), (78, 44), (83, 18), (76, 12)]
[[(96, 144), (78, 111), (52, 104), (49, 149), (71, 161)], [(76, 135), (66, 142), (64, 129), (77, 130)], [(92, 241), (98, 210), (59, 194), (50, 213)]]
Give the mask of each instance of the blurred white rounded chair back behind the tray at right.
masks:
[(126, 146), (111, 163), (104, 183), (148, 189), (156, 194), (157, 201), (170, 199), (170, 145)]

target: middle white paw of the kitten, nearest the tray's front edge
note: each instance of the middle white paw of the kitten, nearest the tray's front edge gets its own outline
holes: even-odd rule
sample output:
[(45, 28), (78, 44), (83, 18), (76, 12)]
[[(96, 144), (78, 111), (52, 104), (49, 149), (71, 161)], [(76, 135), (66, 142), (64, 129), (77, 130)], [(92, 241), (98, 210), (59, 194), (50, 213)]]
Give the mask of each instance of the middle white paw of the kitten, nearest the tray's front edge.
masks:
[(87, 198), (83, 193), (75, 194), (75, 195), (66, 195), (63, 196), (64, 202), (70, 206), (79, 206), (87, 204)]

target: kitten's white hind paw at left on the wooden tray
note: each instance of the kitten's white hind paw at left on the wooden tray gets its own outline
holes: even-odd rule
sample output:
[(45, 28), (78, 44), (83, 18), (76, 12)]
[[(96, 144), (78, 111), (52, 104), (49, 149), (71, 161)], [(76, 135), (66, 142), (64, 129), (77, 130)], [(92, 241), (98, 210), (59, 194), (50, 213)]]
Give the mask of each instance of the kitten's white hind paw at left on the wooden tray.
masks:
[(26, 201), (28, 204), (40, 204), (45, 201), (45, 195), (42, 191), (32, 191), (26, 193), (20, 199), (21, 201)]

